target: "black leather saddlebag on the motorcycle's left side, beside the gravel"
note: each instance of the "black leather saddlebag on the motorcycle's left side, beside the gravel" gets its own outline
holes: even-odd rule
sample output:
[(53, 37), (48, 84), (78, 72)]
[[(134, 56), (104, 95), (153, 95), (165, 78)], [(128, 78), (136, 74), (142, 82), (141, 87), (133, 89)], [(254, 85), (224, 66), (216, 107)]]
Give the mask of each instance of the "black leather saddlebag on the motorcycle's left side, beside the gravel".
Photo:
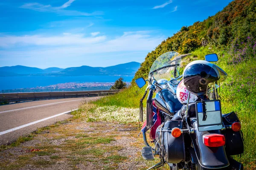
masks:
[(182, 129), (183, 122), (176, 120), (168, 120), (157, 128), (156, 139), (160, 146), (163, 146), (160, 151), (167, 163), (177, 164), (185, 160), (185, 145), (184, 136), (181, 133), (180, 137), (172, 136), (172, 129), (178, 127)]

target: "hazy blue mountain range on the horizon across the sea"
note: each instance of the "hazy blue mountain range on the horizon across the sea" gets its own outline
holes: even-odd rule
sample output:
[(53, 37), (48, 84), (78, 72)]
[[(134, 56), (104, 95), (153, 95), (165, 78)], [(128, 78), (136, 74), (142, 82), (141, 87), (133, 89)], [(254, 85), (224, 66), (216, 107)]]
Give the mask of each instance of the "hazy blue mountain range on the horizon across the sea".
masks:
[(120, 75), (133, 76), (140, 68), (139, 62), (128, 62), (109, 67), (90, 67), (83, 65), (81, 67), (57, 68), (51, 67), (46, 69), (26, 67), (16, 65), (11, 67), (0, 67), (0, 77), (3, 76), (21, 76), (21, 75), (48, 75), (48, 76), (84, 76), (84, 75)]

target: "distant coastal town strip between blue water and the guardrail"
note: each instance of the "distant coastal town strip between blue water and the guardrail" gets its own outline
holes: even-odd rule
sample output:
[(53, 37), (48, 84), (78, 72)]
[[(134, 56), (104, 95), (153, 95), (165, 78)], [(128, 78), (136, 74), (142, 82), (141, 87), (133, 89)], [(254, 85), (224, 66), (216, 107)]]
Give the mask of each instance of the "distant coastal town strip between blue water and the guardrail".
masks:
[[(126, 82), (130, 85), (130, 82)], [(114, 82), (67, 82), (56, 85), (48, 85), (35, 88), (19, 88), (2, 90), (0, 93), (21, 93), (21, 92), (46, 92), (46, 91), (93, 91), (93, 90), (109, 90)]]

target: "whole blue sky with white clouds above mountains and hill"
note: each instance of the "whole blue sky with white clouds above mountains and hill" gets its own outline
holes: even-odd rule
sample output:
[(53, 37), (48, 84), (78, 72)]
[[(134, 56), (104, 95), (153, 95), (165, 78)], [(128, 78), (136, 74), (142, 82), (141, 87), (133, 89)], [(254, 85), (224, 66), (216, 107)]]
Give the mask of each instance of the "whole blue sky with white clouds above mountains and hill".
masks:
[(0, 67), (143, 62), (182, 26), (231, 0), (8, 0), (0, 2)]

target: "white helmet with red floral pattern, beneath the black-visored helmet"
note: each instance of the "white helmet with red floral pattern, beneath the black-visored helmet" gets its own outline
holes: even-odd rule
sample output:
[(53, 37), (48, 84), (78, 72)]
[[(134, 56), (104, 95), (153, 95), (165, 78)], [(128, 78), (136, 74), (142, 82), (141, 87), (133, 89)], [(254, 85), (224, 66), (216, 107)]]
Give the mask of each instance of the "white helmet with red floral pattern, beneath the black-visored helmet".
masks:
[(189, 96), (189, 91), (186, 89), (186, 86), (184, 85), (183, 80), (181, 80), (179, 85), (177, 86), (176, 95), (178, 100), (182, 104), (186, 104), (188, 102), (188, 97), (189, 97), (189, 103), (195, 102), (198, 99), (198, 97), (195, 94), (190, 93), (190, 96)]

